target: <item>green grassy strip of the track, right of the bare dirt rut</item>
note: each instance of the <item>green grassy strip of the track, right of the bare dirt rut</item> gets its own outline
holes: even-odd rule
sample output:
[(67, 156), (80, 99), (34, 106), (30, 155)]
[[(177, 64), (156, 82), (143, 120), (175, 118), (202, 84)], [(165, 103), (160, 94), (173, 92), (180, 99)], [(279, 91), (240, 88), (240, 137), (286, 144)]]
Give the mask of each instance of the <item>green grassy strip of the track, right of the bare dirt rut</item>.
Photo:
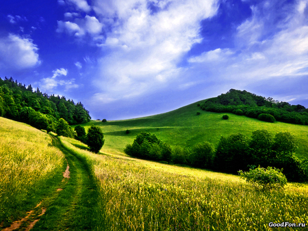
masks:
[(97, 226), (97, 183), (83, 160), (63, 148), (56, 146), (66, 157), (70, 178), (61, 191), (57, 191), (46, 202), (46, 213), (33, 230), (95, 230)]

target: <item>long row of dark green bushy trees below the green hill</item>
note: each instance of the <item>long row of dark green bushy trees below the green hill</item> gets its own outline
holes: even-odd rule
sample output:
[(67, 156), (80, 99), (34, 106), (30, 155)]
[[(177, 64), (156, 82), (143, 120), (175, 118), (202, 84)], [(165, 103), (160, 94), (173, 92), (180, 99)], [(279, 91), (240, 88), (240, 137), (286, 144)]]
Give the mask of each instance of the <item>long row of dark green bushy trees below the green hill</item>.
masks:
[(300, 161), (294, 156), (296, 148), (297, 141), (288, 132), (272, 135), (266, 130), (257, 130), (253, 131), (251, 137), (242, 133), (222, 136), (217, 147), (205, 141), (192, 148), (170, 148), (155, 134), (140, 133), (133, 144), (127, 144), (124, 152), (140, 159), (166, 161), (231, 174), (258, 166), (271, 166), (283, 168), (283, 174), (290, 181), (304, 182), (308, 180), (307, 161)]

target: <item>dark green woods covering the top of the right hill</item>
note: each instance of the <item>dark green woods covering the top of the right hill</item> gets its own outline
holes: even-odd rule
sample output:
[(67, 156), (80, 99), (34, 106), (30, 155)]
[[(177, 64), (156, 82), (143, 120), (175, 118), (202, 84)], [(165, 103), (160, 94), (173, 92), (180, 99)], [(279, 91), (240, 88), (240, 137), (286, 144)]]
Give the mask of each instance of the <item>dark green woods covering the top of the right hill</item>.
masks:
[[(280, 121), (290, 124), (308, 125), (308, 109), (302, 105), (257, 96), (250, 92), (231, 89), (226, 94), (209, 98), (198, 105), (203, 111), (229, 112), (239, 116), (258, 118), (268, 122)], [(264, 116), (268, 114), (274, 117)], [(261, 115), (261, 116), (260, 116)]]

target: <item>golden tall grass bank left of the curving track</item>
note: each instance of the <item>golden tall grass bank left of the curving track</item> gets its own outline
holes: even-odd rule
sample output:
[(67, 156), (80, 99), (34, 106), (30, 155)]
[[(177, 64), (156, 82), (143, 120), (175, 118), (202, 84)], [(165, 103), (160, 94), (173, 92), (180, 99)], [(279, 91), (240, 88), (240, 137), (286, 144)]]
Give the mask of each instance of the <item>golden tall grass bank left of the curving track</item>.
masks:
[(63, 165), (64, 155), (47, 133), (0, 118), (0, 223), (36, 206)]

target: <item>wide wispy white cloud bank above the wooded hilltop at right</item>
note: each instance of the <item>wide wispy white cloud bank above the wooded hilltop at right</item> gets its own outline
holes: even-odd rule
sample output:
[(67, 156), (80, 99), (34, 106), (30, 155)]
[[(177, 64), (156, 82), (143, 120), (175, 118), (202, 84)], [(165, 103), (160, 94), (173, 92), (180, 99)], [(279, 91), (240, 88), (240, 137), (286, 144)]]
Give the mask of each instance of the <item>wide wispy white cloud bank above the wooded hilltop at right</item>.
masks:
[(257, 5), (253, 16), (238, 27), (233, 49), (216, 49), (190, 57), (190, 76), (201, 73), (199, 79), (220, 81), (242, 89), (259, 81), (307, 76), (308, 26), (303, 1), (289, 9), (276, 29), (266, 25), (272, 16), (259, 14), (265, 7), (268, 6)]

